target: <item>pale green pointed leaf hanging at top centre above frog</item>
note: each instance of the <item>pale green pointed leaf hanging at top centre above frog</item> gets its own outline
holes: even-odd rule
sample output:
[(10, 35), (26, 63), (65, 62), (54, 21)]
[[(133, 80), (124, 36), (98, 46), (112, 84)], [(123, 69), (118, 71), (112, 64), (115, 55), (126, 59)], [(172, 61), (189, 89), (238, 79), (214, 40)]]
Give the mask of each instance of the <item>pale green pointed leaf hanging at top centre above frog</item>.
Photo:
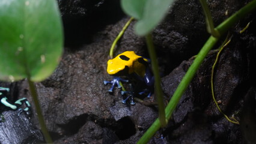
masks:
[(135, 32), (144, 36), (160, 23), (173, 2), (174, 0), (122, 0), (121, 6), (126, 14), (138, 19)]

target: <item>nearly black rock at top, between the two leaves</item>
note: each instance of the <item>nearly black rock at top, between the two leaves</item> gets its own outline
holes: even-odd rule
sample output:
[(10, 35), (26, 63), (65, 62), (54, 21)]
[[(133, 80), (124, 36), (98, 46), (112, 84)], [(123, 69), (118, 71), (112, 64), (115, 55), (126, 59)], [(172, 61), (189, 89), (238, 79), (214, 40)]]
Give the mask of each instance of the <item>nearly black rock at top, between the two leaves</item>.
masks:
[(58, 0), (65, 33), (65, 46), (80, 49), (93, 42), (94, 34), (124, 16), (119, 0)]

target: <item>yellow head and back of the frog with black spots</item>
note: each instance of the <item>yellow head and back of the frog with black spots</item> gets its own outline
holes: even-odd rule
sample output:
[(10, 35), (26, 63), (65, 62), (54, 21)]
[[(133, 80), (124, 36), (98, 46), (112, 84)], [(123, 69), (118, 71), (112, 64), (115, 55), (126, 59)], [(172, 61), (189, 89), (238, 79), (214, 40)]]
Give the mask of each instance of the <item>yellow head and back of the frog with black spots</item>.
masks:
[(108, 61), (108, 74), (113, 76), (126, 76), (136, 73), (141, 77), (145, 75), (147, 59), (138, 56), (133, 51), (126, 51)]

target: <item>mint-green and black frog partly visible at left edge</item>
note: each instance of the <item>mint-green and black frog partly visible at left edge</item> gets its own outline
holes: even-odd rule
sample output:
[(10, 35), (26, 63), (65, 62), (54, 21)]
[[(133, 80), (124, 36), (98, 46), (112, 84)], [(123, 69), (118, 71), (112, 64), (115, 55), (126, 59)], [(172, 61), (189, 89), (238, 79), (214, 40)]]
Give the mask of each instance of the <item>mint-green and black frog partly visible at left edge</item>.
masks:
[[(31, 115), (31, 105), (30, 105), (29, 101), (26, 98), (20, 98), (19, 100), (17, 100), (14, 103), (12, 103), (6, 97), (7, 92), (9, 92), (9, 91), (10, 91), (9, 88), (2, 88), (2, 87), (0, 87), (0, 101), (1, 101), (0, 104), (2, 104), (5, 107), (7, 107), (7, 109), (19, 110), (20, 112), (19, 112), (18, 116), (22, 112), (25, 112), (26, 115), (30, 116)], [(22, 106), (23, 103), (25, 103), (25, 105), (26, 105), (25, 109), (19, 108), (20, 106)]]

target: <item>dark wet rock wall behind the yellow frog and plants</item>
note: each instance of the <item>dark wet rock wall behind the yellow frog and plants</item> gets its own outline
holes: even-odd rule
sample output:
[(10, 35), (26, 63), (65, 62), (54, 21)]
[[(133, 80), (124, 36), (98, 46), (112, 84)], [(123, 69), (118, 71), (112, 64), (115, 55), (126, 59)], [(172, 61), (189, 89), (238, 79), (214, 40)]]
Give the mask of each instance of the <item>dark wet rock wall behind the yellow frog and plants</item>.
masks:
[[(207, 2), (217, 26), (249, 1)], [(111, 44), (130, 17), (121, 10), (119, 0), (58, 0), (58, 4), (65, 33), (64, 53), (52, 76), (36, 83), (54, 143), (138, 142), (157, 118), (154, 95), (144, 98), (144, 103), (123, 104), (125, 96), (121, 90), (115, 88), (109, 94), (111, 85), (103, 84), (112, 79), (106, 72)], [(221, 52), (213, 79), (219, 106), (240, 125), (228, 122), (212, 99), (210, 77), (217, 55), (212, 50), (181, 97), (168, 126), (157, 131), (148, 143), (256, 143), (255, 16), (249, 14), (230, 29), (231, 41)], [(249, 22), (248, 29), (240, 34)], [(148, 58), (145, 39), (133, 31), (135, 23), (133, 20), (117, 43), (115, 56), (133, 50)], [(221, 46), (226, 36), (214, 49)], [(176, 1), (154, 29), (153, 42), (166, 103), (208, 37), (197, 0)], [(10, 100), (27, 97), (32, 103), (26, 80), (10, 86)], [(128, 83), (124, 86), (129, 89)], [(33, 103), (32, 110), (35, 111)], [(40, 130), (33, 113), (29, 121)]]

